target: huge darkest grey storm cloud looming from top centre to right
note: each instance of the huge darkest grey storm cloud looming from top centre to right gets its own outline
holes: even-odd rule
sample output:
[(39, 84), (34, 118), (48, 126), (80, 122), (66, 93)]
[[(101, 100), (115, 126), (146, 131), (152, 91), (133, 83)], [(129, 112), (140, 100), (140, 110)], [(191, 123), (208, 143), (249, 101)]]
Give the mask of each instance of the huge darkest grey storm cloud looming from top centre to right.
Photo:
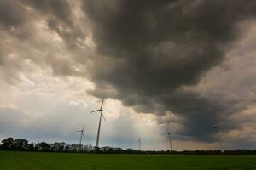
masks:
[[(139, 112), (184, 118), (183, 135), (211, 140), (212, 125), (234, 128), (229, 117), (246, 108), (238, 99), (184, 90), (220, 65), (238, 24), (253, 20), (253, 0), (85, 0), (96, 59), (91, 79), (97, 97), (120, 99)], [(225, 123), (224, 123), (225, 122)]]

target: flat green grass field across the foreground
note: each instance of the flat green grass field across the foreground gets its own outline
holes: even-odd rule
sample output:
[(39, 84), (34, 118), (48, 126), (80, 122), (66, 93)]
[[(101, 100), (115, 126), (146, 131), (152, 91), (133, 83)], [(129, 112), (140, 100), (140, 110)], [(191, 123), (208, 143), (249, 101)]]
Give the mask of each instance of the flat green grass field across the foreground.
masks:
[(1, 170), (256, 169), (256, 156), (94, 155), (0, 151)]

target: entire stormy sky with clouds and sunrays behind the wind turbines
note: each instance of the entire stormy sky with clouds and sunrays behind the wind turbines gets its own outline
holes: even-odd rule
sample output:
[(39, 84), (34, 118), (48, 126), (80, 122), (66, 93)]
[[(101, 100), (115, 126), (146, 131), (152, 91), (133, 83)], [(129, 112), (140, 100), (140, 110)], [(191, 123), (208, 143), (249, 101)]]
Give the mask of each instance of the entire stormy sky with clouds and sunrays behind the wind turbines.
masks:
[(0, 139), (255, 149), (253, 0), (0, 0)]

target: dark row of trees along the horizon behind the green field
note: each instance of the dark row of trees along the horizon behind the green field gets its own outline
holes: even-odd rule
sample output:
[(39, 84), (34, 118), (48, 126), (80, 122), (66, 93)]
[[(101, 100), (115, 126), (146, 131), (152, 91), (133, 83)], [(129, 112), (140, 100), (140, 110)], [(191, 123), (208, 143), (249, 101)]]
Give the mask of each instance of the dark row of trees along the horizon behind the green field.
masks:
[(184, 150), (184, 151), (170, 151), (170, 150), (133, 150), (113, 147), (96, 148), (92, 145), (82, 144), (65, 144), (64, 142), (55, 142), (48, 144), (40, 142), (38, 144), (29, 143), (26, 139), (3, 139), (0, 144), (0, 150), (19, 150), (19, 151), (47, 151), (47, 152), (83, 152), (83, 153), (127, 153), (127, 154), (174, 154), (174, 155), (256, 155), (256, 150)]

